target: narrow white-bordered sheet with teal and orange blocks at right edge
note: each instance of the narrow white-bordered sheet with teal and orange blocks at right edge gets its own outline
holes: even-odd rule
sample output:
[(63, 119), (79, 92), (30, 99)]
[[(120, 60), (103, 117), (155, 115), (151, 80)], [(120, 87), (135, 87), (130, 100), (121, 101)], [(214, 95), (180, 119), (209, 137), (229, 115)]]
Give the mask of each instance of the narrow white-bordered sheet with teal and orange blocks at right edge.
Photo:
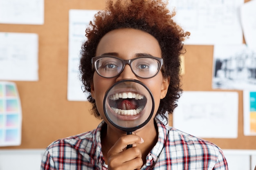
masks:
[(244, 135), (256, 136), (256, 90), (243, 91)]

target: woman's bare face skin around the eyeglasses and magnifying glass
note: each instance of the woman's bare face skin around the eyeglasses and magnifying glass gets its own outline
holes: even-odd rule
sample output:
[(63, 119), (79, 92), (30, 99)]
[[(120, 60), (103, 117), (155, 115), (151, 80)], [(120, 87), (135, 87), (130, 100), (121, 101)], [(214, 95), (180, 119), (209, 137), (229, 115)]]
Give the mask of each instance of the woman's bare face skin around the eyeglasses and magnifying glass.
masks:
[[(151, 55), (161, 58), (161, 49), (157, 40), (149, 33), (136, 29), (116, 29), (108, 32), (100, 40), (97, 46), (96, 56), (101, 55), (111, 55), (124, 60), (130, 60), (141, 55)], [(113, 78), (101, 77), (94, 71), (91, 94), (104, 121), (110, 125), (103, 110), (103, 99), (106, 91), (113, 84), (123, 79), (137, 79), (148, 87), (155, 100), (154, 117), (158, 110), (160, 99), (164, 98), (167, 93), (168, 79), (163, 77), (161, 71), (152, 78), (144, 79), (137, 77), (132, 72), (130, 66), (126, 64), (121, 74)], [(150, 122), (153, 122), (153, 117)]]

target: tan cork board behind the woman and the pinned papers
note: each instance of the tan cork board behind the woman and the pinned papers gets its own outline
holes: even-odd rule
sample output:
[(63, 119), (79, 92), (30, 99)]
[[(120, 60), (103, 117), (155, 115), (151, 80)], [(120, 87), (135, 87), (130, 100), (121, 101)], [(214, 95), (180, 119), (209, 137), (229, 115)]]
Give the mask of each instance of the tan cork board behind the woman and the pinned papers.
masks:
[[(97, 127), (100, 120), (91, 115), (88, 102), (67, 101), (68, 13), (70, 9), (103, 9), (104, 6), (105, 0), (45, 0), (43, 25), (0, 24), (1, 32), (39, 36), (39, 81), (15, 82), (22, 104), (21, 145), (1, 149), (45, 148), (56, 139)], [(184, 91), (213, 91), (213, 46), (187, 45), (185, 48)], [(207, 140), (222, 149), (256, 149), (256, 136), (243, 135), (243, 91), (237, 92), (238, 138)]]

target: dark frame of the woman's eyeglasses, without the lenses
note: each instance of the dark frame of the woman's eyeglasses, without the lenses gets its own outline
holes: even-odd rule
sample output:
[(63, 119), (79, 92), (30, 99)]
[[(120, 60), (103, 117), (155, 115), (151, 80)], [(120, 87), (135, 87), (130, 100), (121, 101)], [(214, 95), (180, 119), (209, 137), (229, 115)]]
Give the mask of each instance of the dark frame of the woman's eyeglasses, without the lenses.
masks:
[[(120, 60), (122, 63), (123, 63), (123, 68), (121, 69), (120, 73), (118, 73), (117, 75), (115, 76), (112, 76), (112, 77), (105, 77), (103, 75), (101, 75), (97, 69), (94, 69), (94, 68), (97, 68), (96, 67), (96, 62), (97, 60), (101, 59), (101, 58), (104, 58), (104, 57), (110, 57), (110, 58), (115, 58), (115, 59), (118, 59)], [(159, 62), (159, 70), (157, 71), (157, 73), (155, 73), (155, 75), (151, 76), (151, 77), (141, 77), (139, 75), (137, 75), (133, 69), (132, 69), (132, 66), (131, 66), (131, 63), (134, 61), (134, 60), (137, 60), (139, 58), (152, 58), (152, 59), (155, 59)], [(162, 58), (159, 58), (159, 57), (154, 57), (154, 56), (150, 56), (150, 55), (143, 55), (143, 56), (139, 56), (139, 57), (136, 57), (136, 58), (133, 58), (133, 59), (130, 59), (130, 60), (124, 60), (124, 59), (121, 59), (119, 57), (115, 57), (115, 56), (112, 56), (112, 55), (101, 55), (101, 56), (97, 56), (97, 57), (92, 57), (92, 68), (96, 71), (96, 73), (98, 75), (100, 75), (101, 77), (104, 77), (104, 78), (113, 78), (113, 77), (117, 77), (118, 75), (120, 75), (123, 71), (124, 71), (124, 67), (126, 66), (126, 64), (128, 64), (132, 70), (132, 73), (135, 74), (137, 77), (140, 77), (140, 78), (143, 78), (143, 79), (150, 79), (152, 77), (155, 77), (161, 70), (162, 66), (163, 66), (163, 59)]]

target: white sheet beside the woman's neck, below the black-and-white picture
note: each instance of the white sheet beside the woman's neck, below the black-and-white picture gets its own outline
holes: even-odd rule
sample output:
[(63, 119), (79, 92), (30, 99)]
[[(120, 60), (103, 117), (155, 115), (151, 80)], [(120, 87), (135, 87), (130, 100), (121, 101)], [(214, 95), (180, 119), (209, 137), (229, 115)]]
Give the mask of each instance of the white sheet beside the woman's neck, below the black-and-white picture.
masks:
[(237, 138), (238, 93), (184, 91), (173, 127), (201, 138)]

